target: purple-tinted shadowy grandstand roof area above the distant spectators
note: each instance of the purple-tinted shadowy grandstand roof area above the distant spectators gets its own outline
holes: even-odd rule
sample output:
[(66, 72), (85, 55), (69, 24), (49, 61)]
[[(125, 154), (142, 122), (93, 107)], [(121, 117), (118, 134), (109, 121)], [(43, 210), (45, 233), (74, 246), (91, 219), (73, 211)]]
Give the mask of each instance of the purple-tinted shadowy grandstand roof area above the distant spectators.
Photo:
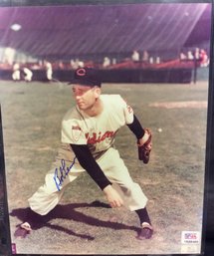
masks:
[[(1, 7), (0, 47), (41, 57), (179, 50), (209, 40), (210, 9), (196, 3)], [(21, 29), (12, 30), (14, 24)]]

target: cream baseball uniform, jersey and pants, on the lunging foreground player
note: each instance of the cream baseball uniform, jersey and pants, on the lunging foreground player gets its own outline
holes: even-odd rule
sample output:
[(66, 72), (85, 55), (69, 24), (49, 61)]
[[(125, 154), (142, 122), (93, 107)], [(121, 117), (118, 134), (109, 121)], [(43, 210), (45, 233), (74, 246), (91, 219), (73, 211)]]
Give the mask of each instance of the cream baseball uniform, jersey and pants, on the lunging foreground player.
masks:
[[(62, 147), (53, 168), (47, 173), (45, 184), (29, 199), (30, 207), (41, 215), (47, 214), (60, 201), (65, 187), (85, 169), (70, 144), (88, 145), (103, 173), (92, 173), (101, 188), (112, 183), (131, 211), (145, 207), (147, 198), (139, 185), (131, 179), (128, 170), (114, 147), (119, 128), (133, 122), (132, 109), (119, 95), (101, 95), (104, 111), (89, 117), (78, 106), (70, 110), (62, 122)], [(103, 182), (104, 181), (104, 182)]]

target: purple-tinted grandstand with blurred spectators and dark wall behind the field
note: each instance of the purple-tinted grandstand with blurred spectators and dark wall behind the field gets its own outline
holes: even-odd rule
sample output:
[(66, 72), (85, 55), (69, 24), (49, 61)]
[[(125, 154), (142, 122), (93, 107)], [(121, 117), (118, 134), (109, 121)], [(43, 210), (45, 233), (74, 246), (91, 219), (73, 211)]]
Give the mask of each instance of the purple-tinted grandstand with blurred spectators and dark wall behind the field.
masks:
[(2, 79), (11, 79), (19, 63), (33, 70), (33, 80), (44, 81), (49, 61), (61, 81), (80, 63), (102, 70), (105, 82), (189, 83), (201, 61), (195, 64), (187, 53), (199, 48), (209, 56), (209, 4), (4, 7), (0, 17)]

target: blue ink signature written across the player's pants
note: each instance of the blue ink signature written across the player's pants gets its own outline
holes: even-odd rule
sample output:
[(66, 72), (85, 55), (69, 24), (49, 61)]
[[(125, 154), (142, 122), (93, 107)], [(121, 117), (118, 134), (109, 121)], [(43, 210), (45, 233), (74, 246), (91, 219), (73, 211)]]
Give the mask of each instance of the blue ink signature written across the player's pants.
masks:
[(74, 158), (72, 164), (69, 167), (66, 166), (66, 161), (62, 159), (60, 168), (55, 169), (54, 181), (59, 191), (61, 190), (61, 186), (63, 184), (64, 179), (67, 177), (70, 170), (74, 166), (76, 158), (77, 157)]

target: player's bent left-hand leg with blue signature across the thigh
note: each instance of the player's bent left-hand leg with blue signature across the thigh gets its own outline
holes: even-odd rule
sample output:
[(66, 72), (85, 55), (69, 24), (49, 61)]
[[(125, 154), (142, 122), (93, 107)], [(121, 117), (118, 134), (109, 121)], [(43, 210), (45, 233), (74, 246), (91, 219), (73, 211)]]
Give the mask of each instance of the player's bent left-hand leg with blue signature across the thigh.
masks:
[(28, 199), (30, 208), (21, 228), (30, 231), (35, 224), (42, 223), (45, 216), (59, 203), (66, 186), (83, 172), (71, 148), (62, 144), (45, 183)]

